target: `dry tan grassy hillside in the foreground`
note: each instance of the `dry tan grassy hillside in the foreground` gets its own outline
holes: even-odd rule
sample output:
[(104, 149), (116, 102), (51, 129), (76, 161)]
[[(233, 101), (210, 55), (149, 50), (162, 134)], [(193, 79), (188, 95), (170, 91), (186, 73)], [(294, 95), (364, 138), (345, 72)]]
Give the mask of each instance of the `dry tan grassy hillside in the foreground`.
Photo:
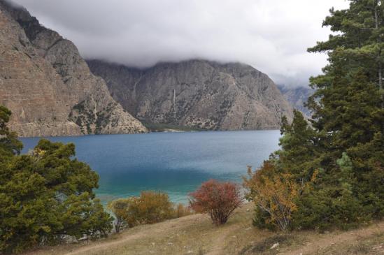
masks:
[[(46, 247), (27, 255), (120, 254), (384, 254), (384, 222), (353, 231), (273, 233), (252, 226), (253, 204), (243, 205), (223, 226), (194, 214), (138, 226), (97, 242)], [(279, 243), (278, 247), (271, 247)]]

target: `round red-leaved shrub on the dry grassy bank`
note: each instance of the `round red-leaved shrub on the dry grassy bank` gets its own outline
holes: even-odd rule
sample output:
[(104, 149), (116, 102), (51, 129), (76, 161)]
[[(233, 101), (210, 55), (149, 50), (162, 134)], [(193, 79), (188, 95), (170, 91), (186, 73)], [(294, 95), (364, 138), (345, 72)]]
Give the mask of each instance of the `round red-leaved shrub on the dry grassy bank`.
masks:
[(190, 196), (190, 207), (195, 212), (208, 213), (217, 226), (225, 224), (243, 202), (238, 185), (216, 180), (204, 182)]

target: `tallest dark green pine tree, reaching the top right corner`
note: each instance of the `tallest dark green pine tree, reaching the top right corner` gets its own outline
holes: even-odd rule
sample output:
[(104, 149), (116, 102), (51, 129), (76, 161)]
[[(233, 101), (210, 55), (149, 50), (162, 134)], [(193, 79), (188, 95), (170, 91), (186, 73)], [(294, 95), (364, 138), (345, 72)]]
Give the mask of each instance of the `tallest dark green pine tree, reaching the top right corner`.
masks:
[(357, 178), (353, 194), (373, 217), (384, 216), (383, 18), (379, 1), (351, 1), (348, 10), (332, 9), (323, 23), (339, 33), (309, 49), (329, 55), (324, 74), (311, 78), (317, 91), (308, 101), (324, 149), (324, 181), (332, 185), (337, 159), (346, 152)]

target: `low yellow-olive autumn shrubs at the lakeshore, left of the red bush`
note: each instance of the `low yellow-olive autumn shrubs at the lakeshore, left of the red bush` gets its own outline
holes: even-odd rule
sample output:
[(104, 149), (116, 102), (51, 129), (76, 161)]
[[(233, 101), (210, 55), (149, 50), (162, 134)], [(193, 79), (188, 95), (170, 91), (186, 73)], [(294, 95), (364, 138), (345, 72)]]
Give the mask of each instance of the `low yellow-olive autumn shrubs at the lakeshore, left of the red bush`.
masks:
[(155, 191), (143, 191), (140, 196), (112, 201), (108, 209), (115, 214), (116, 232), (127, 226), (154, 224), (192, 213), (182, 204), (173, 205), (167, 194)]

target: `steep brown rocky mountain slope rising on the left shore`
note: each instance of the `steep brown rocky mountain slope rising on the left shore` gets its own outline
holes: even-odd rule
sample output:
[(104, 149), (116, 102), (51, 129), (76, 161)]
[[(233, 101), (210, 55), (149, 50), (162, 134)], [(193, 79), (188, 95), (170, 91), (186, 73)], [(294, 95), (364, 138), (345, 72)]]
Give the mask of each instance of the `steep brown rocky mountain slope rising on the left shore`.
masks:
[(92, 75), (76, 46), (0, 0), (0, 104), (20, 136), (147, 131)]

